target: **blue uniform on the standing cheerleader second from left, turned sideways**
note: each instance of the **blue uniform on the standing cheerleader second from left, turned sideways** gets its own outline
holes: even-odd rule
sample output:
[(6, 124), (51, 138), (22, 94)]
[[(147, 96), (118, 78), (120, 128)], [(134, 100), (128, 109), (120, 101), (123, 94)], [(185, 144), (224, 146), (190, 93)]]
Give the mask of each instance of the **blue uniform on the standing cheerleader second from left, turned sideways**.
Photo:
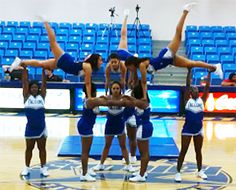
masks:
[(77, 123), (77, 129), (81, 136), (93, 136), (93, 126), (96, 121), (99, 108), (88, 109), (86, 106), (86, 100), (84, 101), (82, 116)]

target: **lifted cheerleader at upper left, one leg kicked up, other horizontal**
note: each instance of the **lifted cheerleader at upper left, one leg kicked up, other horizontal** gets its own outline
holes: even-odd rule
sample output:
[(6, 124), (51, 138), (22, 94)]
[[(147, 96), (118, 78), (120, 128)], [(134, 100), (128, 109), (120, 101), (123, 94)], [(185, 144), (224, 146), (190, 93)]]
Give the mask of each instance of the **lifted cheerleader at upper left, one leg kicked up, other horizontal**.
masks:
[(85, 58), (83, 62), (76, 62), (74, 58), (65, 53), (56, 41), (56, 36), (51, 28), (50, 24), (44, 20), (44, 26), (47, 30), (48, 40), (50, 42), (50, 48), (54, 55), (54, 58), (44, 61), (39, 60), (21, 60), (16, 57), (11, 65), (10, 71), (17, 68), (19, 65), (42, 67), (44, 69), (53, 70), (60, 68), (64, 72), (73, 75), (84, 75), (84, 82), (86, 84), (88, 98), (91, 98), (91, 76), (93, 71), (100, 69), (102, 65), (102, 57), (99, 54), (91, 54)]

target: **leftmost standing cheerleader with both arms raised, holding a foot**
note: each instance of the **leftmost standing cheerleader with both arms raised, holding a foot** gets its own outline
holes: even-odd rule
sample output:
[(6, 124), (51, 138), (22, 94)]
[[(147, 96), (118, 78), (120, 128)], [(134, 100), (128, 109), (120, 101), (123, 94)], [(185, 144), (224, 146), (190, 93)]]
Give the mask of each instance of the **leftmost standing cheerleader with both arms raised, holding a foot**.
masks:
[(42, 72), (41, 89), (37, 81), (28, 81), (28, 71), (24, 67), (22, 76), (23, 96), (25, 103), (25, 115), (27, 124), (25, 129), (26, 151), (25, 151), (25, 169), (21, 172), (22, 176), (26, 176), (30, 172), (30, 161), (35, 143), (39, 149), (39, 158), (41, 163), (40, 173), (48, 176), (46, 165), (46, 140), (47, 131), (45, 124), (45, 108), (44, 100), (46, 96), (46, 77)]

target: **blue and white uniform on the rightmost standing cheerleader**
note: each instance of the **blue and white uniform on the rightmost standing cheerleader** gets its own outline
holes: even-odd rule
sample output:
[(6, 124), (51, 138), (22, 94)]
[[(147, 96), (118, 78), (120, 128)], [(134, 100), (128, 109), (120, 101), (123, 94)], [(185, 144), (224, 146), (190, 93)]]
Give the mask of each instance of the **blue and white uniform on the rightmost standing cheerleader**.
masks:
[(204, 115), (204, 103), (201, 98), (189, 99), (185, 106), (185, 123), (182, 135), (197, 136), (202, 133), (202, 120)]

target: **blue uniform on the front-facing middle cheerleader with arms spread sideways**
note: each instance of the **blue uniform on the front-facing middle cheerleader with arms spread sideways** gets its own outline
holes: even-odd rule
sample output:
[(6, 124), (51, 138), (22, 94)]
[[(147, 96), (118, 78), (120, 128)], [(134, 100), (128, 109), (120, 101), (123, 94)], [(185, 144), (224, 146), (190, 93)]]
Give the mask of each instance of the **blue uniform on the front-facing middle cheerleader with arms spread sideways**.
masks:
[(105, 125), (105, 135), (122, 135), (125, 129), (123, 119), (124, 108), (118, 106), (110, 106), (107, 110), (107, 121)]

